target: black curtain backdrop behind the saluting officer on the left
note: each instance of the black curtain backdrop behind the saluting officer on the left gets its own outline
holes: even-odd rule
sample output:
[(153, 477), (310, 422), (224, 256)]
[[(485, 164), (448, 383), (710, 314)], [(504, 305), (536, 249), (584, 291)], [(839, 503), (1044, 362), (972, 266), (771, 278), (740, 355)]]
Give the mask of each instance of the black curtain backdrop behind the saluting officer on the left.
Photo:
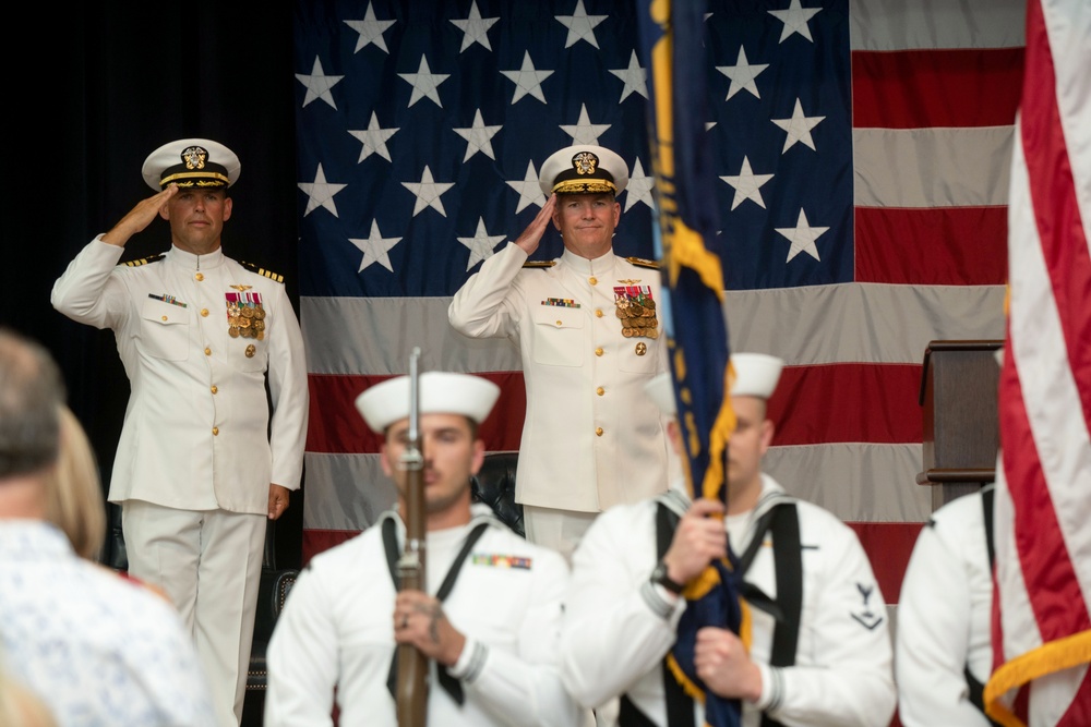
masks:
[[(113, 335), (53, 311), (68, 263), (153, 194), (144, 158), (188, 136), (216, 140), (242, 162), (224, 250), (285, 276), (298, 313), (292, 4), (20, 5), (4, 44), (3, 299), (0, 325), (57, 358), (69, 403), (108, 478), (129, 383)], [(17, 15), (17, 20), (14, 20)], [(163, 252), (156, 220), (123, 260)], [(277, 526), (280, 567), (298, 567), (302, 495)]]

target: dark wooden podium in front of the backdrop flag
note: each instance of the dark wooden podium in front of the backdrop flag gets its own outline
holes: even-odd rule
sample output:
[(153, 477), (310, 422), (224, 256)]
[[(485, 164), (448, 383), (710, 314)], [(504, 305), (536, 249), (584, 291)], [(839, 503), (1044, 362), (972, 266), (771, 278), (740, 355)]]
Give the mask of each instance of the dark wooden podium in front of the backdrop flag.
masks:
[(1004, 341), (932, 341), (924, 352), (924, 470), (916, 484), (937, 485), (933, 511), (995, 477), (1002, 348)]

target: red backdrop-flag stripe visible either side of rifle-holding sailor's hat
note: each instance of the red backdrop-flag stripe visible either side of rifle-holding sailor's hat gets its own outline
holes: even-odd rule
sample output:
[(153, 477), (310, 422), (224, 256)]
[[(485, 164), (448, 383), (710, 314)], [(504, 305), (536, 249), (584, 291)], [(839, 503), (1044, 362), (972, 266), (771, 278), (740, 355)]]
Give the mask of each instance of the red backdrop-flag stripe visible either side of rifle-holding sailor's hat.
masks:
[[(500, 387), (500, 400), (481, 425), (489, 451), (514, 451), (523, 436), (527, 392), (523, 372), (481, 373)], [(392, 376), (308, 374), (311, 392), (307, 451), (322, 453), (377, 453), (382, 438), (368, 428), (356, 410), (356, 398)]]

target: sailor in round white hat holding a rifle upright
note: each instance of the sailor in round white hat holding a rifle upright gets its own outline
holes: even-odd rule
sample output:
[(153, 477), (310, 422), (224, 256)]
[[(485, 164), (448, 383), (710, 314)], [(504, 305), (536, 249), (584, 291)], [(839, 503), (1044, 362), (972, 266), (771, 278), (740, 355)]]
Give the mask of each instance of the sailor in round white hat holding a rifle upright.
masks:
[[(268, 647), (265, 727), (396, 727), (392, 659), (412, 644), (430, 663), (428, 724), (572, 727), (575, 702), (558, 673), (561, 597), (568, 567), (471, 505), (481, 467), (478, 425), (500, 389), (468, 374), (420, 376), (425, 590), (400, 590), (405, 550), (409, 379), (357, 398), (383, 437), (383, 471), (398, 504), (352, 540), (319, 554), (292, 586)], [(358, 483), (365, 487), (369, 483)]]

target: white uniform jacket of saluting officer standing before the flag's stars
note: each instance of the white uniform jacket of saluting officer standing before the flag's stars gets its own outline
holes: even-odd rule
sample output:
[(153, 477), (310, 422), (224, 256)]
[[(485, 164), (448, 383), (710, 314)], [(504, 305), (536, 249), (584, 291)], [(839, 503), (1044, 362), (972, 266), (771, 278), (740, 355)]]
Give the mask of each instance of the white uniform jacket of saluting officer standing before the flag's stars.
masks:
[(667, 371), (667, 339), (623, 336), (614, 300), (615, 287), (646, 286), (662, 303), (659, 270), (613, 253), (589, 260), (566, 250), (548, 268), (524, 268), (526, 260), (509, 243), (447, 312), (466, 336), (519, 347), (527, 413), (516, 500), (599, 512), (663, 492), (667, 425), (644, 385)]

